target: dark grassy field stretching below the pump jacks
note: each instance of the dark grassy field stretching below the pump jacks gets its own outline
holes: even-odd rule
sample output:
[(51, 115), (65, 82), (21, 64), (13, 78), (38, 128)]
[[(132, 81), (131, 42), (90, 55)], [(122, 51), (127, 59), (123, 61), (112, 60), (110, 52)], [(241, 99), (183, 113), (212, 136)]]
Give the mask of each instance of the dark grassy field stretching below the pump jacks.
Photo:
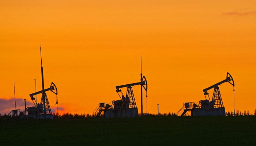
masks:
[(252, 146), (256, 116), (0, 120), (1, 146)]

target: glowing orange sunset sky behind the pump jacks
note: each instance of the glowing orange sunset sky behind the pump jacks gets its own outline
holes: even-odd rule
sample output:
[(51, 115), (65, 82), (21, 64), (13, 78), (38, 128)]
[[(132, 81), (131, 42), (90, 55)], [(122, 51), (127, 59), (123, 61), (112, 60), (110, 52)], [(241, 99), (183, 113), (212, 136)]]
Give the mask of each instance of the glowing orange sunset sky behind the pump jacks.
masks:
[[(176, 113), (205, 99), (202, 90), (226, 72), (236, 109), (256, 108), (255, 0), (1, 1), (0, 19), (1, 99), (14, 97), (14, 79), (16, 97), (27, 102), (34, 78), (42, 89), (41, 42), (45, 87), (56, 84), (60, 113), (92, 114), (98, 103), (118, 100), (116, 85), (140, 81), (140, 54), (150, 113), (157, 103), (161, 113)], [(140, 87), (133, 91), (140, 112)], [(233, 87), (220, 91), (233, 111)], [(47, 95), (53, 110), (56, 96)]]

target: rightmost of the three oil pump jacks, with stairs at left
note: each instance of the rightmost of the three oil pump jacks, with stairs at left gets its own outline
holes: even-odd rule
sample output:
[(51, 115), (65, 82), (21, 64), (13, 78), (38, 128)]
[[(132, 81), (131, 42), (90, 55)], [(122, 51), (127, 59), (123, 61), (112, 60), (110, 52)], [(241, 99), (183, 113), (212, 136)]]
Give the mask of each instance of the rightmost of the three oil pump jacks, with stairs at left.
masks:
[[(191, 111), (191, 116), (225, 116), (225, 107), (222, 102), (221, 92), (219, 91), (219, 85), (229, 82), (233, 85), (233, 91), (235, 84), (233, 77), (230, 73), (227, 72), (226, 79), (223, 81), (218, 82), (206, 89), (203, 89), (204, 96), (208, 95), (208, 99), (200, 100), (199, 105), (195, 104), (194, 102), (190, 103), (183, 103), (183, 107), (177, 112), (177, 115), (184, 110), (181, 116), (185, 115), (187, 111)], [(212, 100), (210, 100), (208, 90), (214, 88), (214, 92), (212, 95)]]

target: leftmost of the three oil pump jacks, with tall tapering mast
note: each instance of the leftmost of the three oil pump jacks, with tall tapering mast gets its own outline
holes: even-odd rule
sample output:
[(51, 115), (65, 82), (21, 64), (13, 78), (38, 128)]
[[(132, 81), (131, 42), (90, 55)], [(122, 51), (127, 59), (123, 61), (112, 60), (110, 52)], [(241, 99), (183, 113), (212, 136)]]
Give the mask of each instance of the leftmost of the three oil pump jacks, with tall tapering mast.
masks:
[[(44, 88), (44, 73), (43, 73), (43, 66), (42, 66), (42, 53), (41, 53), (41, 45), (40, 45), (40, 55), (41, 55), (41, 74), (42, 74), (42, 90), (30, 94), (30, 98), (34, 103), (34, 107), (28, 107), (26, 110), (28, 111), (29, 115), (33, 118), (38, 119), (53, 119), (52, 111), (50, 109), (50, 104), (46, 95), (47, 91), (52, 91), (54, 94), (58, 94), (56, 85), (52, 82), (50, 88)], [(38, 95), (42, 93), (41, 103), (37, 104), (37, 101), (34, 98), (34, 95)], [(28, 117), (27, 116), (27, 117)]]

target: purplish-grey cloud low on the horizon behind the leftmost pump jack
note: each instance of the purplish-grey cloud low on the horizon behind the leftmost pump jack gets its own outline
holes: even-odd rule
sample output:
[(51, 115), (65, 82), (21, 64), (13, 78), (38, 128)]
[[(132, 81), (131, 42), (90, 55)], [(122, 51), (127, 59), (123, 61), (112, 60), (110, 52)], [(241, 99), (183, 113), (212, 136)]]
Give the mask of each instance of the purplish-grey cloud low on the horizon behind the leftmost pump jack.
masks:
[[(26, 107), (34, 106), (31, 101), (26, 100)], [(25, 101), (24, 99), (16, 98), (16, 109), (20, 109), (20, 111), (25, 110)], [(12, 110), (15, 110), (15, 100), (11, 99), (0, 99), (0, 114), (9, 114)]]

